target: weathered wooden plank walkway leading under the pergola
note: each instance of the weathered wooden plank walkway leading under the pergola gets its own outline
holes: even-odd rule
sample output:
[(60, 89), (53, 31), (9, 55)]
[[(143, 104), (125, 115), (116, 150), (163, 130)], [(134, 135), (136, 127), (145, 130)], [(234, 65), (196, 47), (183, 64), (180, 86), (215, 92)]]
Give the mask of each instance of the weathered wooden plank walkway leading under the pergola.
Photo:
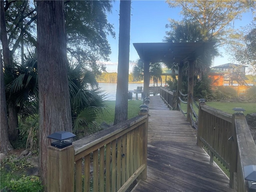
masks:
[(133, 192), (232, 192), (226, 175), (196, 145), (186, 117), (150, 97), (148, 176)]

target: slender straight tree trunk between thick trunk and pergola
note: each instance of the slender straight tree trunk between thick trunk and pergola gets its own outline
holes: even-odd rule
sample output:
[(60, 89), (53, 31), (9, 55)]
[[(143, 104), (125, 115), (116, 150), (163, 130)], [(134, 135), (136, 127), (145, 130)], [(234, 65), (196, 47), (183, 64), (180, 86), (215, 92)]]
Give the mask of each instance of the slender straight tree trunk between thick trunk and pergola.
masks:
[(131, 1), (120, 1), (118, 69), (114, 125), (128, 118), (128, 79), (130, 52)]

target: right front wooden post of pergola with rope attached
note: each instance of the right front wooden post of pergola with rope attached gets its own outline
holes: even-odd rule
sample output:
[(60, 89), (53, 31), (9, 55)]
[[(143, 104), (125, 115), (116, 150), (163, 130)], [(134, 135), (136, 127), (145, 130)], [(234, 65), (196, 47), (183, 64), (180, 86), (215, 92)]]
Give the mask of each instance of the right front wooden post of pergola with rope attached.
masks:
[(193, 96), (194, 92), (194, 60), (190, 60), (188, 64), (188, 105), (187, 105), (187, 121), (190, 122), (192, 125), (189, 113), (193, 113), (192, 109), (190, 108), (190, 103), (193, 105), (193, 100), (190, 94)]

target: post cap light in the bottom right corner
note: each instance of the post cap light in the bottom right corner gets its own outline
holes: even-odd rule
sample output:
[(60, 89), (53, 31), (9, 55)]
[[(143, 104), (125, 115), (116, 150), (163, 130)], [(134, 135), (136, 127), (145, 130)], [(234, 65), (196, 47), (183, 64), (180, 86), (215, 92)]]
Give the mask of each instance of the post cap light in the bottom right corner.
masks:
[(244, 180), (250, 189), (256, 190), (256, 165), (244, 166)]

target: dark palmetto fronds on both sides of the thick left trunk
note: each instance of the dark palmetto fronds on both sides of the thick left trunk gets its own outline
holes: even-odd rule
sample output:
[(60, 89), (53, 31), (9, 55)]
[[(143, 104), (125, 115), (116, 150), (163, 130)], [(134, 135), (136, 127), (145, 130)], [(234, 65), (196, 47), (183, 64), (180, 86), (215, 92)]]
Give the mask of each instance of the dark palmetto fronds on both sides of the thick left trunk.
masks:
[[(17, 114), (24, 117), (38, 114), (38, 73), (35, 54), (25, 57), (24, 65), (5, 68), (4, 80), (7, 103), (12, 101)], [(100, 129), (95, 122), (98, 114), (106, 110), (104, 94), (98, 88), (92, 72), (82, 64), (70, 64), (68, 84), (72, 112), (73, 132), (92, 134)], [(18, 115), (17, 115), (18, 120)]]

